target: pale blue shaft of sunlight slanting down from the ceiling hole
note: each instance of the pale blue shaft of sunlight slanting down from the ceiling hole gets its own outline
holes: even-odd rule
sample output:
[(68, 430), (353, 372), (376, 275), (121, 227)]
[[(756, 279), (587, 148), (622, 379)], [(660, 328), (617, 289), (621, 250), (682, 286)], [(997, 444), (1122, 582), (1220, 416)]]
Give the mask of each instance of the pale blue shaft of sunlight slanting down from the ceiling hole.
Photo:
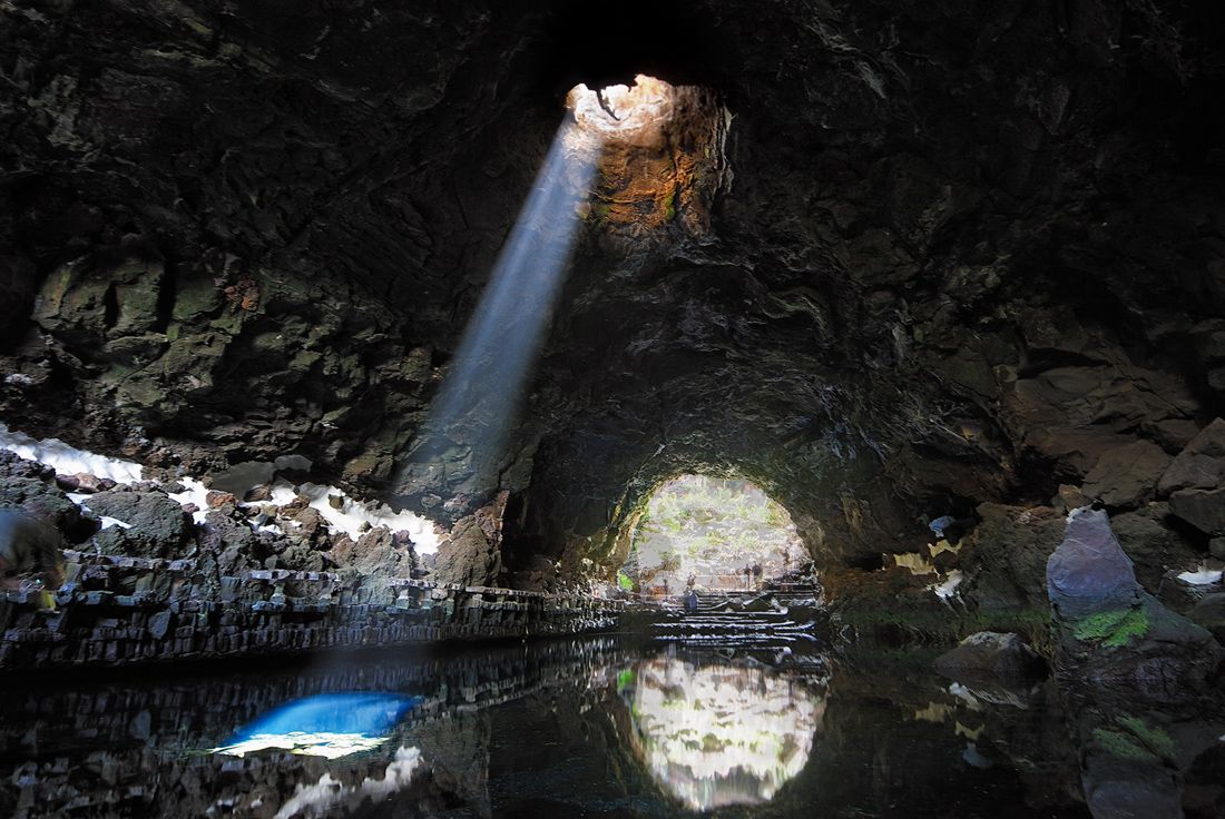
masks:
[(419, 452), (468, 448), (478, 473), (497, 463), (565, 280), (599, 153), (567, 116), (434, 399)]

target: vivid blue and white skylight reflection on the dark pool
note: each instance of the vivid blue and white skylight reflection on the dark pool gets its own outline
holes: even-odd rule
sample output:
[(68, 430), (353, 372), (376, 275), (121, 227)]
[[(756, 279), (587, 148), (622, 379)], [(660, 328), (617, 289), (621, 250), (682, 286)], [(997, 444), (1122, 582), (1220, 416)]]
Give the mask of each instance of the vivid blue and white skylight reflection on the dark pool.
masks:
[(385, 743), (396, 724), (419, 701), (419, 697), (376, 692), (306, 697), (246, 725), (216, 753), (243, 757), (281, 748), (338, 759)]

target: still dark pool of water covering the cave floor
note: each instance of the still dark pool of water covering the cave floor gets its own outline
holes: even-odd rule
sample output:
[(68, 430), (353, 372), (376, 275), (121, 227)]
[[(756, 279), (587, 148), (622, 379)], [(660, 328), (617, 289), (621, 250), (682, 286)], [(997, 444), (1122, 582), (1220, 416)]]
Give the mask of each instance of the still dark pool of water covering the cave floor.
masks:
[(926, 667), (592, 639), (28, 679), (0, 815), (1088, 815), (1049, 689)]

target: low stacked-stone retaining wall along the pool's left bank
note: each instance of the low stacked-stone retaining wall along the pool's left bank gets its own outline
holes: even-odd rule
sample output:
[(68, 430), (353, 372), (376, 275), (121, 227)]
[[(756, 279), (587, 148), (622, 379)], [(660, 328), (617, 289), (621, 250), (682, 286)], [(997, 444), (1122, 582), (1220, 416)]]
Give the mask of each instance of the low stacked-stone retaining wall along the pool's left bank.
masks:
[(0, 667), (116, 665), (442, 639), (611, 628), (622, 604), (582, 595), (392, 579), (342, 584), (328, 572), (260, 569), (196, 582), (196, 561), (67, 552), (59, 608), (0, 599)]

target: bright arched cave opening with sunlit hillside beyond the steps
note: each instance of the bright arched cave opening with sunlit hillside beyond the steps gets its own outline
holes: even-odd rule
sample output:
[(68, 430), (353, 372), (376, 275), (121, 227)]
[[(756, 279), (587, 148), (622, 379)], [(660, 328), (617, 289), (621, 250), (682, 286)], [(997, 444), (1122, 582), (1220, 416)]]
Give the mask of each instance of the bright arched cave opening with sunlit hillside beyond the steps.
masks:
[(650, 493), (621, 580), (649, 594), (676, 593), (690, 578), (699, 588), (746, 589), (804, 563), (791, 517), (756, 484), (690, 474)]

